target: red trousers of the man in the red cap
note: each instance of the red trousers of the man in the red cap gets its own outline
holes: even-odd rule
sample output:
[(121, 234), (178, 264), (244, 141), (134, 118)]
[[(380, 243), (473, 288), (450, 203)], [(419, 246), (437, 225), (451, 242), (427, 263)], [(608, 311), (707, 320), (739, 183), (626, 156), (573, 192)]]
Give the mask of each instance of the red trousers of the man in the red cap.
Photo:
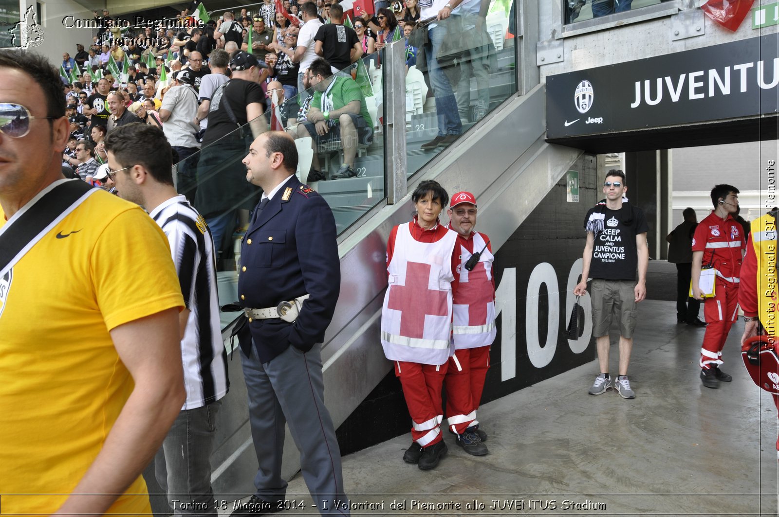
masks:
[(476, 410), (485, 389), (489, 368), (490, 346), (455, 350), (449, 357), (449, 369), (443, 382), (446, 386), (446, 418), (449, 429), (463, 434), (478, 423)]

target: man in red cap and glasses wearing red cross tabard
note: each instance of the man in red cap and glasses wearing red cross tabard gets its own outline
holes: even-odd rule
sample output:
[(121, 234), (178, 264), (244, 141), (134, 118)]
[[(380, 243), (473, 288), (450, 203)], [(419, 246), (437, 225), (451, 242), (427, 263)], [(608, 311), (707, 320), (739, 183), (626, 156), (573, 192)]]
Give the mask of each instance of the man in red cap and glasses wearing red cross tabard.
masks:
[[(447, 211), (449, 228), (457, 232), (452, 269), (454, 282), (452, 342), (446, 387), (446, 424), (457, 435), (457, 445), (474, 456), (488, 453), (487, 439), (479, 429), (476, 410), (485, 387), (489, 349), (495, 340), (495, 279), (489, 237), (476, 227), (476, 198), (457, 192)], [(478, 256), (471, 259), (474, 254)], [(468, 262), (471, 260), (471, 262)], [(471, 267), (471, 270), (468, 269)]]

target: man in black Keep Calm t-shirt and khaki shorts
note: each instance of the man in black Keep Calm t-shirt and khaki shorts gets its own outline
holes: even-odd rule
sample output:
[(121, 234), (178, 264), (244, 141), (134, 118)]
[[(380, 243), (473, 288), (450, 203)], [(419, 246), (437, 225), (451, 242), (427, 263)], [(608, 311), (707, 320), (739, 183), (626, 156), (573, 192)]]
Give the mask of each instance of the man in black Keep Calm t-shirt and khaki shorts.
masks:
[[(636, 329), (636, 304), (647, 297), (649, 227), (643, 211), (622, 199), (627, 189), (624, 172), (608, 171), (603, 186), (606, 199), (591, 208), (584, 220), (587, 244), (582, 257), (582, 279), (573, 294), (587, 294), (587, 278), (593, 279), (592, 333), (601, 373), (595, 378), (590, 395), (601, 395), (614, 387), (623, 399), (634, 399), (636, 394), (630, 388), (627, 373)], [(619, 319), (619, 377), (614, 382), (608, 375), (608, 329), (613, 313)]]

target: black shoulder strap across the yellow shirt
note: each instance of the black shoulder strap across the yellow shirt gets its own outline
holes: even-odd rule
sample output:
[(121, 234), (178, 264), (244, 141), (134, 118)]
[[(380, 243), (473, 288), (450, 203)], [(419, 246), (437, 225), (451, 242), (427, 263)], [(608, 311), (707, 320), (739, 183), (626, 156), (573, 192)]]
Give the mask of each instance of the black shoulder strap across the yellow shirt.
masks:
[(18, 218), (0, 228), (0, 278), (30, 250), (54, 223), (97, 192), (86, 181), (70, 180), (52, 188)]

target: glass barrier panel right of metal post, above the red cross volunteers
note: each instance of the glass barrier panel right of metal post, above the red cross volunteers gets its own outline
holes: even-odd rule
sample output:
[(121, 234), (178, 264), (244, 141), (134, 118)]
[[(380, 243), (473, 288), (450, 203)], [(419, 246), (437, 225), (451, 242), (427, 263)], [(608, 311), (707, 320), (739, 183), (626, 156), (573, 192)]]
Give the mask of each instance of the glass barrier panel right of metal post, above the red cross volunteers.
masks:
[(513, 2), (470, 0), (411, 30), (406, 55), (407, 174), (516, 94)]

